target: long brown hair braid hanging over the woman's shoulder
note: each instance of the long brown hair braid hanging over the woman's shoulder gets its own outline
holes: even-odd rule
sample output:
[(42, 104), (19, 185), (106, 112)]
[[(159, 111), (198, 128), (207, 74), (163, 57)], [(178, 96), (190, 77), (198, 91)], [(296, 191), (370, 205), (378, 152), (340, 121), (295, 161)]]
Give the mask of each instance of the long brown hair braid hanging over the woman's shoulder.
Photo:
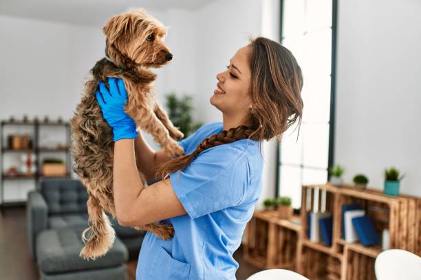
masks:
[(241, 139), (252, 139), (253, 132), (255, 129), (247, 126), (237, 126), (237, 128), (230, 128), (229, 130), (222, 130), (218, 134), (211, 135), (210, 137), (204, 139), (202, 143), (197, 145), (196, 149), (191, 154), (184, 154), (175, 159), (171, 159), (166, 163), (163, 163), (158, 167), (156, 172), (157, 178), (166, 178), (170, 173), (175, 172), (176, 170), (184, 170), (193, 159), (195, 159), (201, 152), (207, 150), (208, 148), (215, 147), (217, 145), (223, 145), (228, 143), (233, 143)]

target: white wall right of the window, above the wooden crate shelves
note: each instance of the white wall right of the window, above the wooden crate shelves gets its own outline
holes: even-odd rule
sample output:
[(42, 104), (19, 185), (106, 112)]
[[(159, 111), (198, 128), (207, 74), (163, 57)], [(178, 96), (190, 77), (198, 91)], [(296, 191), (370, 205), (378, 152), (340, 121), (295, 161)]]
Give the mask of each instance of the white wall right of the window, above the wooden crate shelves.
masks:
[(421, 1), (338, 3), (335, 162), (382, 189), (385, 167), (421, 196)]

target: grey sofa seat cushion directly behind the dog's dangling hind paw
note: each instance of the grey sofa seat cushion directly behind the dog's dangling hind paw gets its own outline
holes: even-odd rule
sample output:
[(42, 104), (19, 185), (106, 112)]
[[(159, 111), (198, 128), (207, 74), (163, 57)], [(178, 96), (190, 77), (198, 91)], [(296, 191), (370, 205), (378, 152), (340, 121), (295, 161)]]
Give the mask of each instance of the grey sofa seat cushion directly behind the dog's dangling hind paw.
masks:
[(95, 260), (85, 260), (79, 257), (84, 244), (82, 232), (84, 229), (51, 229), (41, 232), (36, 237), (36, 257), (40, 270), (45, 273), (57, 273), (93, 268), (106, 268), (124, 264), (129, 253), (127, 248), (116, 237), (111, 249)]

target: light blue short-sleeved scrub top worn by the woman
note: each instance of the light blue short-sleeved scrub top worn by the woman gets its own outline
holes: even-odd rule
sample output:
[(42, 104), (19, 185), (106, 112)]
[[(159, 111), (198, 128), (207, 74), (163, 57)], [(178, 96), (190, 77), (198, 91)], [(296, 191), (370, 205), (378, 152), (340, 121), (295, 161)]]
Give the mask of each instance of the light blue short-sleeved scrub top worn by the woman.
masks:
[[(205, 124), (179, 143), (191, 154), (222, 130), (222, 121)], [(187, 214), (161, 221), (173, 224), (171, 240), (147, 231), (136, 280), (235, 279), (233, 253), (261, 194), (262, 170), (259, 141), (241, 139), (208, 148), (182, 172), (171, 173), (171, 185)]]

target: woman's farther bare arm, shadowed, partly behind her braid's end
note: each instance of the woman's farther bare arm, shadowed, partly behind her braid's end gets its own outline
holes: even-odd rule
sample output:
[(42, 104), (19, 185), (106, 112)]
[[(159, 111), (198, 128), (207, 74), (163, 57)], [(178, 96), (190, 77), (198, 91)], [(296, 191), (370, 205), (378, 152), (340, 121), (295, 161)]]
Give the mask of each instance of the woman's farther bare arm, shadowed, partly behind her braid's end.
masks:
[(171, 156), (167, 155), (164, 150), (155, 152), (151, 146), (144, 140), (142, 132), (135, 139), (136, 166), (147, 180), (155, 179), (155, 168), (169, 161)]

